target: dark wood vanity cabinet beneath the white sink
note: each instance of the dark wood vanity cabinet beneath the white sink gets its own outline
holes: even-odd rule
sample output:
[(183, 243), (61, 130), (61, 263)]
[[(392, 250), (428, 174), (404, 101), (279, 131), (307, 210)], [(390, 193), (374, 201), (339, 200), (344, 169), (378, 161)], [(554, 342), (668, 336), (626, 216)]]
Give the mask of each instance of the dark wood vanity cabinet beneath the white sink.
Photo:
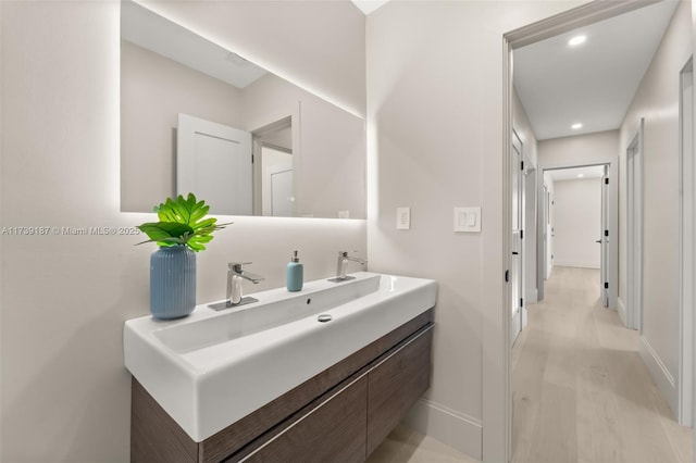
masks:
[(133, 378), (136, 462), (363, 462), (427, 390), (432, 310), (202, 442)]

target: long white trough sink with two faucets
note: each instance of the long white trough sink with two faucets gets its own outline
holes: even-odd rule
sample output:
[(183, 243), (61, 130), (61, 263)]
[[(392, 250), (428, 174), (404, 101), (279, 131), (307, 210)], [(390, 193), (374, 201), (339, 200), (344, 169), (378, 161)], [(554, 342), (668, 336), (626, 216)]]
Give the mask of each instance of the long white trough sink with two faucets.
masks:
[(200, 442), (435, 305), (434, 280), (351, 276), (257, 292), (258, 302), (220, 312), (128, 320), (125, 366)]

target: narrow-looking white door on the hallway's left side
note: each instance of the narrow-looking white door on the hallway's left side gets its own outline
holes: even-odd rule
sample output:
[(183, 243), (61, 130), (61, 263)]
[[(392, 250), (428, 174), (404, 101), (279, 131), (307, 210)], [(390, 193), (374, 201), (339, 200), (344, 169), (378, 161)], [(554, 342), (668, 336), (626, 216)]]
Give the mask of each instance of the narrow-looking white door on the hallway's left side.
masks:
[(524, 168), (524, 164), (522, 163), (522, 141), (518, 134), (512, 130), (512, 150), (511, 151), (511, 162), (510, 162), (510, 176), (512, 183), (512, 259), (510, 268), (510, 284), (512, 285), (512, 290), (510, 291), (512, 295), (511, 308), (512, 308), (512, 322), (510, 324), (510, 338), (512, 343), (520, 335), (522, 330), (522, 308), (524, 306), (524, 300), (522, 298), (522, 192), (523, 192), (523, 182), (522, 182), (522, 171)]

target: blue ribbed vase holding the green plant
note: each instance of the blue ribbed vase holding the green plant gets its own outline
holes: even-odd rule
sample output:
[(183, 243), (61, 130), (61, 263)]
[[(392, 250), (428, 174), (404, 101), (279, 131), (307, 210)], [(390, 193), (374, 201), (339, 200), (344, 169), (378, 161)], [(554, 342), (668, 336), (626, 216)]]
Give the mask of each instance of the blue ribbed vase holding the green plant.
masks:
[(162, 247), (150, 255), (150, 312), (178, 318), (196, 308), (196, 253), (186, 246)]

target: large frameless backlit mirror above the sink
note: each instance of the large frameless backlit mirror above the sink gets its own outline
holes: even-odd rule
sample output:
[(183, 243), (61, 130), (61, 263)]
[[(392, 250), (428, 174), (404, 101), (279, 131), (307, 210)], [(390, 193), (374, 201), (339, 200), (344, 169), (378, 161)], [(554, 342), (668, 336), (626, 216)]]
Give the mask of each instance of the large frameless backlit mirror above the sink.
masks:
[(189, 191), (213, 214), (365, 218), (364, 121), (122, 1), (121, 210)]

